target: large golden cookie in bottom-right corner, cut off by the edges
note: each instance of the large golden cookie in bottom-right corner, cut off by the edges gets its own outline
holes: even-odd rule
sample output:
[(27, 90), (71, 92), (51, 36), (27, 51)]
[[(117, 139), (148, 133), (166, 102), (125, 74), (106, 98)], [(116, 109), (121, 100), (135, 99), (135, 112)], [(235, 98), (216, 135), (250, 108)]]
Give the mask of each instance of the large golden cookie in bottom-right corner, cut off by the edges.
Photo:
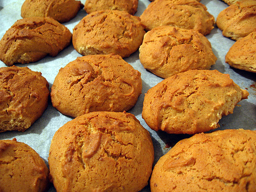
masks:
[(196, 134), (159, 159), (151, 191), (255, 191), (255, 152), (255, 131)]

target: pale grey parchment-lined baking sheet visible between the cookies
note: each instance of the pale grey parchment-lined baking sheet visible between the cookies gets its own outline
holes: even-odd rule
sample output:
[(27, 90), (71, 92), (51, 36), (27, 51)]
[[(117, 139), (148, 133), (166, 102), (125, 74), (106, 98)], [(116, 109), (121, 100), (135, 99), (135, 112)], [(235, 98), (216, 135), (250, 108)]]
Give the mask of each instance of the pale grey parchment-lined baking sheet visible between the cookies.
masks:
[[(20, 16), (20, 9), (23, 2), (24, 0), (0, 1), (0, 38), (3, 37), (5, 32), (16, 22), (17, 19), (22, 18)], [(82, 0), (81, 2), (84, 4), (85, 0)], [(201, 0), (201, 3), (207, 7), (208, 12), (214, 15), (215, 19), (220, 11), (228, 7), (227, 4), (221, 0)], [(150, 1), (148, 0), (139, 0), (138, 11), (135, 15), (140, 16), (148, 4), (150, 4)], [(74, 19), (68, 23), (64, 23), (63, 25), (67, 26), (68, 29), (73, 33), (73, 28), (84, 16), (86, 16), (86, 12), (81, 10)], [(222, 32), (217, 28), (217, 26), (215, 26), (215, 29), (213, 29), (206, 37), (211, 42), (212, 50), (218, 58), (216, 64), (211, 67), (211, 70), (216, 69), (222, 73), (229, 74), (230, 78), (233, 79), (233, 81), (236, 82), (241, 89), (246, 89), (250, 94), (248, 99), (239, 102), (240, 106), (236, 106), (233, 114), (224, 116), (219, 121), (221, 127), (217, 130), (256, 130), (256, 74), (231, 68), (227, 63), (225, 63), (225, 55), (235, 41), (222, 36)], [(51, 88), (59, 69), (65, 67), (69, 62), (80, 56), (82, 55), (74, 50), (73, 45), (70, 45), (68, 48), (61, 51), (56, 57), (47, 56), (35, 63), (16, 66), (27, 66), (33, 71), (41, 72), (42, 76), (48, 80)], [(141, 72), (143, 82), (142, 94), (140, 95), (134, 108), (128, 112), (134, 114), (141, 122), (142, 126), (150, 132), (155, 150), (155, 164), (158, 159), (168, 150), (170, 150), (170, 148), (176, 142), (183, 138), (190, 137), (190, 135), (169, 135), (162, 131), (152, 131), (147, 126), (141, 117), (144, 93), (163, 79), (143, 68), (139, 61), (139, 51), (135, 52), (128, 58), (124, 58), (124, 60), (130, 63), (134, 69)], [(0, 67), (7, 66), (0, 61)], [(24, 133), (16, 131), (0, 133), (0, 139), (13, 139), (15, 137), (17, 141), (30, 145), (48, 165), (48, 153), (54, 133), (59, 129), (60, 126), (72, 119), (73, 118), (59, 113), (53, 108), (51, 102), (49, 101), (47, 110), (28, 130), (26, 130)], [(51, 185), (49, 191), (56, 190)], [(150, 191), (150, 187), (146, 186), (142, 191)]]

